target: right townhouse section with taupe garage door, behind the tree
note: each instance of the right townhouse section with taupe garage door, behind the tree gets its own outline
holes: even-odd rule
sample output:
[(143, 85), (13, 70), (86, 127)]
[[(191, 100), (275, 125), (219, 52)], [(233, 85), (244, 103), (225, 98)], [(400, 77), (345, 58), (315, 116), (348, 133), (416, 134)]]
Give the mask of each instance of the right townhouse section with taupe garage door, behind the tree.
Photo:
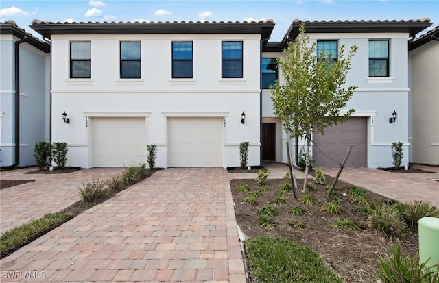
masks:
[[(392, 167), (390, 146), (392, 142), (409, 146), (409, 80), (408, 39), (429, 27), (428, 19), (416, 21), (305, 21), (310, 41), (316, 43), (318, 53), (325, 49), (337, 57), (337, 50), (345, 45), (357, 45), (348, 73), (348, 86), (357, 90), (346, 109), (353, 108), (351, 119), (342, 125), (327, 128), (324, 135), (313, 136), (314, 166), (339, 166), (349, 147), (353, 151), (346, 166), (350, 167)], [(300, 21), (295, 20), (282, 42), (270, 42), (263, 49), (263, 58), (281, 56), (281, 50), (288, 40), (294, 40), (299, 33)], [(263, 59), (265, 60), (265, 59)], [(268, 68), (272, 69), (272, 68)], [(282, 82), (282, 74), (279, 75)], [(274, 145), (274, 151), (263, 160), (287, 162), (285, 141), (281, 121), (274, 117), (270, 90), (263, 89), (263, 142)], [(343, 110), (342, 110), (343, 111)], [(397, 113), (394, 123), (389, 123), (392, 113)], [(266, 131), (266, 132), (265, 132)], [(294, 145), (294, 139), (292, 140)], [(303, 143), (299, 143), (303, 147)], [(272, 148), (272, 147), (271, 147)], [(294, 148), (291, 150), (294, 154)], [(334, 162), (333, 160), (336, 160)], [(408, 158), (403, 159), (408, 164)]]

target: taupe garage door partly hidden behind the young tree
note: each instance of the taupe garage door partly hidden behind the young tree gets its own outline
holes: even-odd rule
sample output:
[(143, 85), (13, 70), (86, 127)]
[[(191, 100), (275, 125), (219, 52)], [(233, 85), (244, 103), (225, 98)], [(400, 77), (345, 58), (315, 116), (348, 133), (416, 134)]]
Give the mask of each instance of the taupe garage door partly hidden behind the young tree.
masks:
[[(327, 127), (324, 134), (315, 134), (313, 167), (338, 167), (349, 146), (354, 145), (346, 167), (366, 167), (366, 118), (354, 117), (346, 123)], [(319, 150), (320, 149), (320, 150)], [(333, 160), (336, 161), (333, 161)]]

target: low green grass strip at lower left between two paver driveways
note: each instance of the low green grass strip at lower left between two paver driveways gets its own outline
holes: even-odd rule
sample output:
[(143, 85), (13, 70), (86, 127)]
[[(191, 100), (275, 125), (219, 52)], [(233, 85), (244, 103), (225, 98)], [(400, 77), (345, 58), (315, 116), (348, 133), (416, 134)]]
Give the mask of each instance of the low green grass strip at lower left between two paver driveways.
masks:
[(73, 214), (58, 212), (46, 214), (0, 235), (0, 257), (8, 256), (20, 247), (73, 218)]

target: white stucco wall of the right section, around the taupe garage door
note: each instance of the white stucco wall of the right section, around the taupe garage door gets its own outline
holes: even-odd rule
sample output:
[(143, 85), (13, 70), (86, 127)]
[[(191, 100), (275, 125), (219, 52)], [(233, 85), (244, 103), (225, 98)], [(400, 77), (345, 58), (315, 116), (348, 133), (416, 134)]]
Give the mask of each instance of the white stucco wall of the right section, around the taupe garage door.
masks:
[[(408, 164), (408, 34), (310, 34), (310, 42), (316, 40), (338, 40), (339, 49), (345, 45), (345, 52), (351, 45), (359, 48), (353, 57), (346, 86), (357, 86), (351, 101), (342, 111), (355, 109), (353, 116), (368, 118), (367, 166), (392, 167), (392, 142), (403, 142), (405, 156), (403, 165)], [(390, 40), (390, 77), (368, 77), (368, 41)], [(346, 54), (345, 53), (345, 54)], [(276, 57), (276, 53), (263, 53), (263, 57)], [(280, 74), (282, 83), (282, 74)], [(270, 91), (263, 91), (263, 117), (274, 116)], [(396, 123), (389, 123), (393, 111), (398, 113)], [(285, 133), (283, 133), (285, 134)], [(292, 140), (294, 144), (294, 140)], [(299, 141), (299, 145), (303, 142)], [(292, 151), (294, 152), (294, 151)], [(285, 162), (285, 152), (282, 162)]]

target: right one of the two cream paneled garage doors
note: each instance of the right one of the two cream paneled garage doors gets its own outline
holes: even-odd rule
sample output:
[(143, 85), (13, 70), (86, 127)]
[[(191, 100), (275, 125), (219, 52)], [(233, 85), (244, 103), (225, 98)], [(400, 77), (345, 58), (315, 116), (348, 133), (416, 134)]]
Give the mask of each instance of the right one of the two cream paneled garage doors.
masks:
[(222, 118), (169, 118), (170, 167), (222, 167)]

